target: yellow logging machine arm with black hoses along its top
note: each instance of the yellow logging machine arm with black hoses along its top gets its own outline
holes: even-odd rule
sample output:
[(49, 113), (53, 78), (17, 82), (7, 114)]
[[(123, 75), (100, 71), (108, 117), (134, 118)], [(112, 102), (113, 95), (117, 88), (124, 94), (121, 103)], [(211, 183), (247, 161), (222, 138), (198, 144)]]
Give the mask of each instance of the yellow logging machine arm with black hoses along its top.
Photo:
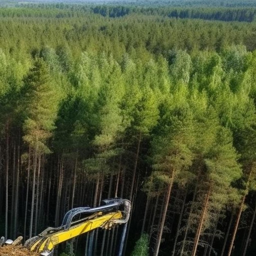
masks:
[(60, 227), (48, 227), (25, 242), (30, 251), (42, 256), (51, 254), (54, 246), (99, 227), (111, 229), (128, 222), (131, 202), (120, 198), (103, 200), (97, 208), (78, 207), (68, 211)]

